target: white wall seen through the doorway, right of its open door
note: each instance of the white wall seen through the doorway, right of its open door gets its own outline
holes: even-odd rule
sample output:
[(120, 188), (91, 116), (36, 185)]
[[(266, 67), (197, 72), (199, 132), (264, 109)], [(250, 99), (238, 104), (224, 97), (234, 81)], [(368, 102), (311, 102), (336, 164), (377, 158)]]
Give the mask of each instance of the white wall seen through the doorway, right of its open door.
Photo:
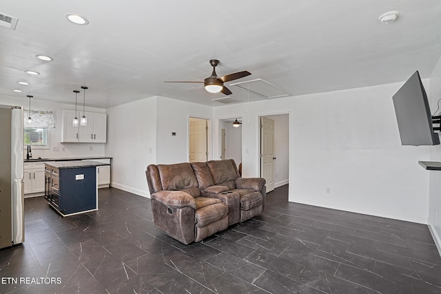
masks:
[(274, 187), (289, 182), (289, 115), (266, 116), (274, 120)]

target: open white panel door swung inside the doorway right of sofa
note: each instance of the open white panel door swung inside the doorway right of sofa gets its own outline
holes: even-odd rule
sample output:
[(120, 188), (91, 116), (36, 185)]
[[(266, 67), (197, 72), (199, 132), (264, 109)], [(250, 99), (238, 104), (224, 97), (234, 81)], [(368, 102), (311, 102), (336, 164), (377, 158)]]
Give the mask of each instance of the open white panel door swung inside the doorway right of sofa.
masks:
[(274, 120), (260, 118), (260, 176), (265, 178), (267, 192), (274, 190)]

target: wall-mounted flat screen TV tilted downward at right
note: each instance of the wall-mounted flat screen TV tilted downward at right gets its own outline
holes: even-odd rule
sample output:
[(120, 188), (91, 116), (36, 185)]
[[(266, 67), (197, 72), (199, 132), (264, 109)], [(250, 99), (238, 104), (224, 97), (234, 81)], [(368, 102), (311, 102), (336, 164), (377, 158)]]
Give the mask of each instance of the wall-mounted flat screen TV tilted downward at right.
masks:
[(401, 145), (440, 144), (440, 137), (433, 132), (429, 100), (418, 70), (393, 95), (392, 100), (400, 130)]

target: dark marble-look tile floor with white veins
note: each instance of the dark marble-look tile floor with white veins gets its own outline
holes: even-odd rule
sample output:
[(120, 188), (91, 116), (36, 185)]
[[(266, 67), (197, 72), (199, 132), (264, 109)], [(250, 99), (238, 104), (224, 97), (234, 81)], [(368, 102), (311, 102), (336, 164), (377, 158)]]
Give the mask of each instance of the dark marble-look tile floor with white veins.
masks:
[(268, 193), (261, 216), (188, 246), (154, 227), (149, 199), (119, 189), (68, 218), (28, 198), (26, 242), (0, 251), (0, 293), (441, 293), (427, 226), (287, 194)]

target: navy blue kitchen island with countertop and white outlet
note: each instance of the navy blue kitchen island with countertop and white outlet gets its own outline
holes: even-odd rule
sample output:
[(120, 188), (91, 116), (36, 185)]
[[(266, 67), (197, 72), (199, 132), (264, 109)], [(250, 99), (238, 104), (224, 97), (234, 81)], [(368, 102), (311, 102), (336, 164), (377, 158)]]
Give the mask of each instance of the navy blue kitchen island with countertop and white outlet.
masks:
[(45, 162), (45, 199), (61, 216), (98, 209), (96, 167), (92, 160)]

